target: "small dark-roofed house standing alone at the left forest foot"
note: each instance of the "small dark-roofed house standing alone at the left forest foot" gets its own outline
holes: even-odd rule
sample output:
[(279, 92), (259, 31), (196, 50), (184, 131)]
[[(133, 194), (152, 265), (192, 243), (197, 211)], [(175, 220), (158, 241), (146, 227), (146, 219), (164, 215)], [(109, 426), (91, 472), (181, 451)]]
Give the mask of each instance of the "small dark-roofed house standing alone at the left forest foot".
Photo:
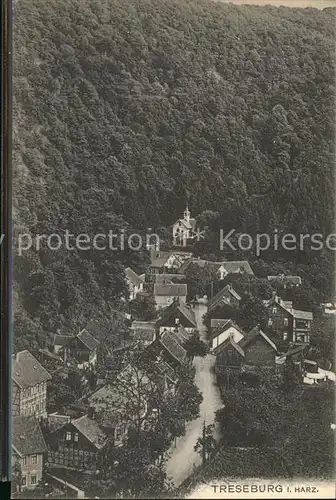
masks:
[(64, 361), (75, 361), (79, 369), (93, 367), (97, 364), (97, 350), (99, 341), (96, 340), (85, 328), (60, 349)]

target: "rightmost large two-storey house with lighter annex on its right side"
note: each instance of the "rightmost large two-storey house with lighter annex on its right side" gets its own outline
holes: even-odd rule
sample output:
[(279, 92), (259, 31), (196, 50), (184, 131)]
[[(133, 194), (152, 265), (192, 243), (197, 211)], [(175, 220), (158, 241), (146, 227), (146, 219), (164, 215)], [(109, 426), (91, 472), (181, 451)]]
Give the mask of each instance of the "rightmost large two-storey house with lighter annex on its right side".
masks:
[(268, 312), (268, 328), (283, 340), (294, 343), (309, 343), (313, 314), (293, 308), (291, 301), (282, 300), (275, 293), (264, 301)]

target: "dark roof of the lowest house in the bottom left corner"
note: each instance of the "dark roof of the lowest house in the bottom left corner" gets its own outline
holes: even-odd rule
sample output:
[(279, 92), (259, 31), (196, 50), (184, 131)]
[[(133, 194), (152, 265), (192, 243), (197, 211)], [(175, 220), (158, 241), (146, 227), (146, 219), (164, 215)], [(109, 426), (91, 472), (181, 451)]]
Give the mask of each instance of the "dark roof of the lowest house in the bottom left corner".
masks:
[(19, 455), (37, 455), (45, 453), (47, 446), (40, 424), (35, 417), (22, 415), (13, 417), (12, 446)]

